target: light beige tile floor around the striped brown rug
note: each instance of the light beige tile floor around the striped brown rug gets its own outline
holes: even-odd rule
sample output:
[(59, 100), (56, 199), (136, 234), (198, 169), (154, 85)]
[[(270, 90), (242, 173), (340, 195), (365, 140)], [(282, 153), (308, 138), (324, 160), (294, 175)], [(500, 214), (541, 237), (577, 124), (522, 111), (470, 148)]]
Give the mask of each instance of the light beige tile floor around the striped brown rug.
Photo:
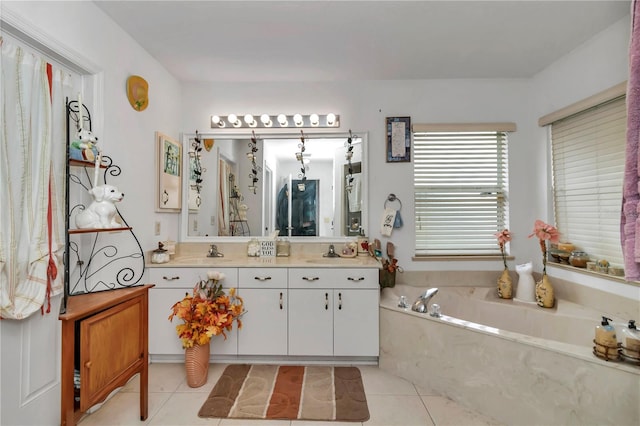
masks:
[[(226, 364), (212, 364), (207, 384), (187, 386), (184, 365), (158, 363), (149, 366), (149, 417), (140, 422), (139, 382), (134, 377), (104, 405), (80, 420), (80, 426), (114, 425), (210, 425), (210, 426), (354, 426), (359, 423), (282, 420), (201, 419), (198, 410), (222, 374)], [(358, 366), (370, 419), (364, 426), (480, 426), (498, 425), (493, 419), (471, 412), (437, 395), (421, 392), (412, 383), (380, 370)]]

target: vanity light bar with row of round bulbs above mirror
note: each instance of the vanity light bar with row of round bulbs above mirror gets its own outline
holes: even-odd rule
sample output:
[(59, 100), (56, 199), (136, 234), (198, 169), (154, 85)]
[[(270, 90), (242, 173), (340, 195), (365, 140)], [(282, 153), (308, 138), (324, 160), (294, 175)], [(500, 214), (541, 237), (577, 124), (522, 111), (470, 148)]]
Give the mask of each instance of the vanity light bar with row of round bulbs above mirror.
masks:
[(229, 114), (212, 115), (212, 129), (282, 129), (282, 128), (340, 127), (340, 116), (329, 114)]

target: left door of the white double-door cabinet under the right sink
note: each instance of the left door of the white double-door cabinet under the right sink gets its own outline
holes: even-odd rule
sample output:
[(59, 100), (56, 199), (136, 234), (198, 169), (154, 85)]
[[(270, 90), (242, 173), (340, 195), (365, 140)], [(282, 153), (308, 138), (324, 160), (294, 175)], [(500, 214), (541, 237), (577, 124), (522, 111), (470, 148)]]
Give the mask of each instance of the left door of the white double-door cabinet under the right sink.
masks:
[(289, 355), (333, 355), (333, 290), (289, 289)]

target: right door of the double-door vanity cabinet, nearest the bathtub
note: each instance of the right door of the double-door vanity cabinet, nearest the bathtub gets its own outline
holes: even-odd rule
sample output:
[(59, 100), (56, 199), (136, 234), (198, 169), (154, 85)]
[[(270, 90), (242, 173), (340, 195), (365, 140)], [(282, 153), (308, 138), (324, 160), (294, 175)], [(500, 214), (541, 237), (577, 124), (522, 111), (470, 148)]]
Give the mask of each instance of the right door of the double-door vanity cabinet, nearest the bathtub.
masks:
[(334, 290), (333, 355), (378, 356), (379, 290)]

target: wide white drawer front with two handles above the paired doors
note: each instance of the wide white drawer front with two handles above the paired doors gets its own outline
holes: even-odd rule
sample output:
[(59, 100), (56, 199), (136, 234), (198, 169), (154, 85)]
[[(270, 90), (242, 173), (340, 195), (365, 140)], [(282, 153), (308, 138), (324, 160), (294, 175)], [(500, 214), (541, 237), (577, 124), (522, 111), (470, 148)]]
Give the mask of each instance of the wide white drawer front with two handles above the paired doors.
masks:
[(291, 268), (289, 288), (378, 288), (378, 270)]

